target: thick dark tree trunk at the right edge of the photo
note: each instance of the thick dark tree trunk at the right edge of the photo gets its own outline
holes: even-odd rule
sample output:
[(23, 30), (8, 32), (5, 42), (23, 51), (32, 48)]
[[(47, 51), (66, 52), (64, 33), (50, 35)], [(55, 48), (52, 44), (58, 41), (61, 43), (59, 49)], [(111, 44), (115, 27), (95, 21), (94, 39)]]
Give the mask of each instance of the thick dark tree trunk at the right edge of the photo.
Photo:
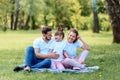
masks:
[(113, 43), (120, 43), (120, 4), (119, 0), (106, 0), (106, 7), (110, 16)]

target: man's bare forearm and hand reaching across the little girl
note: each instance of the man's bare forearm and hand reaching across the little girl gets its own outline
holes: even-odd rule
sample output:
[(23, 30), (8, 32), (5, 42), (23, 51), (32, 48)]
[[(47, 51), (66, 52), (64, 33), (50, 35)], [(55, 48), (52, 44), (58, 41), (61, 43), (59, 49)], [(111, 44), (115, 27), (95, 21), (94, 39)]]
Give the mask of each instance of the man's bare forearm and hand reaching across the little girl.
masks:
[(34, 51), (35, 51), (36, 57), (39, 58), (39, 59), (45, 59), (45, 58), (57, 59), (59, 57), (59, 54), (55, 54), (55, 53), (40, 54), (40, 49), (39, 48), (35, 48)]

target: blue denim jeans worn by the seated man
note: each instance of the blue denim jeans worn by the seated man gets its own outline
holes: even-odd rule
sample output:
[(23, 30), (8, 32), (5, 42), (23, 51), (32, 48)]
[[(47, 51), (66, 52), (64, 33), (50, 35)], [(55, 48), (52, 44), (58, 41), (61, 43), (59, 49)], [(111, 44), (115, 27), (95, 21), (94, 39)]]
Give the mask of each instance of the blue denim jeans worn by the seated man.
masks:
[(38, 59), (35, 55), (34, 48), (29, 46), (26, 50), (25, 64), (30, 68), (50, 68), (50, 59)]

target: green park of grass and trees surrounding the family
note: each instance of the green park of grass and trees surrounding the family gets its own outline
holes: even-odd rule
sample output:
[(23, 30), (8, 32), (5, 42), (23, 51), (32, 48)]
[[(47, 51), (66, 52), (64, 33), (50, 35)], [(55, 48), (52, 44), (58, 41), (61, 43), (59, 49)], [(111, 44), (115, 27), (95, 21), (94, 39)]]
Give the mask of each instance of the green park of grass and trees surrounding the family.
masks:
[[(119, 0), (0, 0), (0, 80), (119, 80), (119, 6)], [(24, 63), (27, 46), (41, 36), (41, 26), (51, 27), (53, 34), (62, 27), (66, 36), (71, 28), (78, 29), (90, 46), (86, 64), (100, 69), (79, 74), (13, 72)]]

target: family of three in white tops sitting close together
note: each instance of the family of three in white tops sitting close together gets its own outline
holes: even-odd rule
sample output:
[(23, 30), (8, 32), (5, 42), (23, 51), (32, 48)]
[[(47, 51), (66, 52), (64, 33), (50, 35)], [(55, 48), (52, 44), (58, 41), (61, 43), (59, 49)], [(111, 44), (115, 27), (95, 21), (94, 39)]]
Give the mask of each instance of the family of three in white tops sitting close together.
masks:
[[(89, 46), (81, 39), (78, 31), (71, 29), (67, 40), (63, 40), (63, 29), (58, 28), (54, 36), (52, 38), (51, 28), (42, 28), (42, 37), (37, 38), (33, 46), (29, 46), (26, 50), (24, 70), (29, 71), (31, 68), (76, 70), (85, 67), (84, 61), (88, 55)], [(83, 49), (78, 56), (77, 48)]]

